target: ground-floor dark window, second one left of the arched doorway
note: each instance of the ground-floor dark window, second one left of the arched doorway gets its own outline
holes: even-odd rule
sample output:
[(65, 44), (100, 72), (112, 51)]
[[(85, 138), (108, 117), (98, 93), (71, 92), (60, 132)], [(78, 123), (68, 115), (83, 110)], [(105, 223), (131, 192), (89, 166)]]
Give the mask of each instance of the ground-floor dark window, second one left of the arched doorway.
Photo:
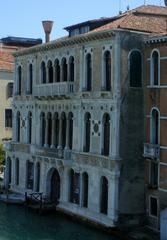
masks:
[(27, 165), (26, 187), (27, 187), (27, 189), (33, 190), (33, 186), (34, 186), (34, 163), (29, 161), (29, 160), (27, 160), (27, 164), (26, 165)]

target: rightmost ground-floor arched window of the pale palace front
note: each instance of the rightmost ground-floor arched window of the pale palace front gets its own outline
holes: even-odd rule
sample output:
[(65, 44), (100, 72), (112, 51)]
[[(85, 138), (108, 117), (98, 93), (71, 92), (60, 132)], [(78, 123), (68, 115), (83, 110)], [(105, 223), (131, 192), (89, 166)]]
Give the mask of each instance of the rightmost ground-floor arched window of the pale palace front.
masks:
[(100, 212), (107, 214), (108, 212), (108, 180), (106, 177), (101, 177), (100, 180)]

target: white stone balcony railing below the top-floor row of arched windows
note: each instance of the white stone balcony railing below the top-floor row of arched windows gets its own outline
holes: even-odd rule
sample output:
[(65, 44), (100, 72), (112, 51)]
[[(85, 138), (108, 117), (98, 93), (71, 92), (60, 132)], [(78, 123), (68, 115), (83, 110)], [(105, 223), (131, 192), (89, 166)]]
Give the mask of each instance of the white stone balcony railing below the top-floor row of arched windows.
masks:
[(36, 85), (33, 88), (33, 95), (37, 97), (64, 96), (74, 92), (73, 82), (58, 82)]

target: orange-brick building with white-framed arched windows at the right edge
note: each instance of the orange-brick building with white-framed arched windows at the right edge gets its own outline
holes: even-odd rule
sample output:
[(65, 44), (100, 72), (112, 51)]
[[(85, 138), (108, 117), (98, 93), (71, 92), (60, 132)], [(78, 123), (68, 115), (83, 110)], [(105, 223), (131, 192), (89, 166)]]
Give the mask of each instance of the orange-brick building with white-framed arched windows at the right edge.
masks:
[(167, 36), (145, 41), (146, 205), (148, 224), (159, 229), (167, 199)]

